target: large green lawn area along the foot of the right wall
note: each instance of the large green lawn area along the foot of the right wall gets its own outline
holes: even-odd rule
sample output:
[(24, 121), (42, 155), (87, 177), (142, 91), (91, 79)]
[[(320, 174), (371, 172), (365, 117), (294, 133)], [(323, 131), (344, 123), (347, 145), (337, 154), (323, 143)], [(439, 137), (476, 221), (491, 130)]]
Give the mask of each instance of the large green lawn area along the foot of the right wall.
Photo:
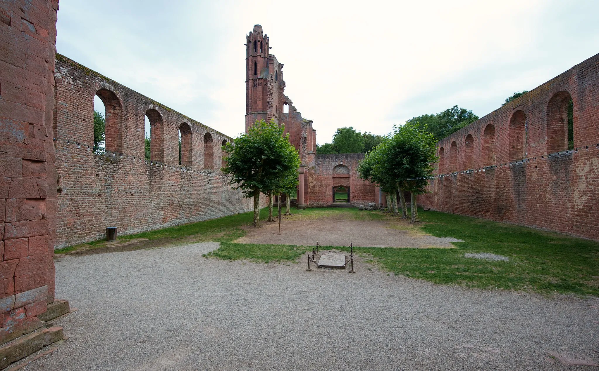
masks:
[[(599, 296), (599, 243), (491, 220), (420, 211), (422, 230), (454, 237), (457, 249), (358, 248), (395, 274), (480, 289)], [(464, 257), (494, 253), (509, 261)]]

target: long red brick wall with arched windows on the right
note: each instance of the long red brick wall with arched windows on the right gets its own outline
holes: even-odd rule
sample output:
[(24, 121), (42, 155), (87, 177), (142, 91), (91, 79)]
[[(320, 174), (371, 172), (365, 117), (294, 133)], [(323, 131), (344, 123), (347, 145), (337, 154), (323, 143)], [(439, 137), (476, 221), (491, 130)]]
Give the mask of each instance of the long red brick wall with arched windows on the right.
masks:
[(598, 84), (599, 54), (438, 142), (422, 206), (599, 240)]

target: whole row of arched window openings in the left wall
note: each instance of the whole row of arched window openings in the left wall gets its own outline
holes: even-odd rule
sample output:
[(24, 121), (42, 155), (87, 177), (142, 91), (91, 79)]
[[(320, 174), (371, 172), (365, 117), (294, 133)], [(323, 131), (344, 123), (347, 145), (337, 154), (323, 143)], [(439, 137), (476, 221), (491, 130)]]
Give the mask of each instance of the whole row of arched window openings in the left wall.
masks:
[[(93, 102), (93, 152), (103, 154), (105, 151), (123, 152), (122, 126), (120, 124), (122, 106), (119, 98), (110, 90), (100, 89)], [(144, 157), (147, 161), (165, 162), (164, 121), (155, 109), (146, 111), (144, 117)], [(222, 146), (226, 145), (226, 139)], [(210, 133), (204, 134), (203, 168), (214, 170), (214, 140)], [(192, 166), (192, 130), (187, 122), (179, 125), (179, 165)], [(223, 150), (224, 160), (226, 152)], [(224, 165), (224, 162), (223, 162)]]

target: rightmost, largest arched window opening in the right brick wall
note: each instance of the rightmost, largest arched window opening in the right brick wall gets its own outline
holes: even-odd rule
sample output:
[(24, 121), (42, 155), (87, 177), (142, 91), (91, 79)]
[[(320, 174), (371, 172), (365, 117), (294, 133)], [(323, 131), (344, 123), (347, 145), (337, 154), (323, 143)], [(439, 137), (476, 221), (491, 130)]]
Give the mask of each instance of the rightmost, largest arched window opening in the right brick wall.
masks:
[(559, 91), (547, 106), (547, 152), (574, 148), (574, 104), (567, 91)]

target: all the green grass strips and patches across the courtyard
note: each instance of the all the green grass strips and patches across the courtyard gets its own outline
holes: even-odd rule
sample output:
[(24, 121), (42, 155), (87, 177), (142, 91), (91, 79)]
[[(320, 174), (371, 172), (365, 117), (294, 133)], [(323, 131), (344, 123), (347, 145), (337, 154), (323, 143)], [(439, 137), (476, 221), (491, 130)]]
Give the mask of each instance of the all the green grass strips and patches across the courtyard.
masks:
[[(276, 211), (275, 211), (276, 212)], [(379, 211), (311, 208), (292, 210), (300, 217), (345, 217), (352, 219), (394, 218)], [(294, 261), (311, 247), (233, 243), (245, 235), (243, 225), (252, 222), (253, 213), (243, 213), (157, 231), (119, 237), (148, 240), (219, 241), (220, 248), (210, 256), (225, 260), (254, 262)], [(261, 210), (261, 221), (268, 210)], [(552, 232), (467, 216), (420, 210), (420, 225), (401, 224), (437, 237), (454, 237), (456, 249), (397, 249), (357, 247), (371, 262), (395, 274), (438, 284), (458, 284), (479, 289), (522, 290), (538, 293), (574, 293), (599, 296), (599, 243)], [(86, 244), (103, 246), (104, 241)], [(66, 247), (66, 253), (77, 247)], [(509, 261), (489, 261), (464, 257), (465, 253), (494, 253)]]

